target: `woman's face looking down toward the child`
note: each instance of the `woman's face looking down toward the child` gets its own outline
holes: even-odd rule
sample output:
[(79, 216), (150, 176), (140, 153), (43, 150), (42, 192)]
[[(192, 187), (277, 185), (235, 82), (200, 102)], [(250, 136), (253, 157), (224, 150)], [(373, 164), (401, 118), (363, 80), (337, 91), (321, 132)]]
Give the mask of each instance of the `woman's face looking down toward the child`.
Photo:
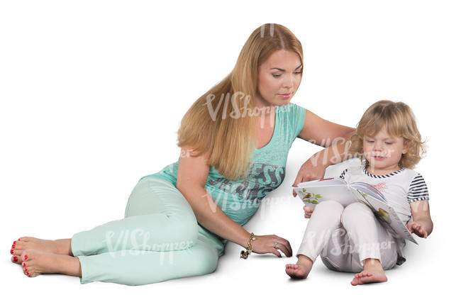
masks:
[(296, 52), (277, 50), (260, 65), (256, 106), (285, 106), (301, 82), (301, 60)]

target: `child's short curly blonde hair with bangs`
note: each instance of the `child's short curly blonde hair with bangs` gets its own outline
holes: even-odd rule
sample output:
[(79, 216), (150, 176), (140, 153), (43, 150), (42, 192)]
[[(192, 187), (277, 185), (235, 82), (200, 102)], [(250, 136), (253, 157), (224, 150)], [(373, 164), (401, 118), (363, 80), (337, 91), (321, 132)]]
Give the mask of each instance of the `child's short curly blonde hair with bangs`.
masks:
[(368, 161), (363, 155), (363, 139), (365, 136), (376, 135), (383, 127), (389, 135), (404, 138), (404, 144), (409, 150), (401, 155), (399, 167), (413, 169), (426, 154), (426, 141), (421, 140), (413, 111), (403, 102), (380, 100), (367, 108), (355, 134), (350, 138), (350, 153), (359, 155), (367, 167)]

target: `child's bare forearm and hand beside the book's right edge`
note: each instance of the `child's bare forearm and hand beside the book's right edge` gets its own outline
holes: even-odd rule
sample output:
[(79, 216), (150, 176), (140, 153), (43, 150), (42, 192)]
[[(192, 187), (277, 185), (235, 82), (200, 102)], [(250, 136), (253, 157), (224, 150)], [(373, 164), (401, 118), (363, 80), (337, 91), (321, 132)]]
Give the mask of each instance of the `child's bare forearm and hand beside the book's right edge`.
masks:
[(431, 235), (433, 223), (429, 213), (429, 201), (413, 201), (410, 203), (413, 221), (406, 224), (410, 233), (416, 233), (418, 237), (427, 238)]

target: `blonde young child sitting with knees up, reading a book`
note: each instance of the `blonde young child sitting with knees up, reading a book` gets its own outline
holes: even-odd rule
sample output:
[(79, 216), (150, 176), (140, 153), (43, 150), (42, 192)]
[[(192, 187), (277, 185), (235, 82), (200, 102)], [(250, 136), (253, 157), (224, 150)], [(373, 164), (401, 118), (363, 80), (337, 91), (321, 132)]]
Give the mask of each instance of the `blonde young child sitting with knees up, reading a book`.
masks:
[[(351, 140), (350, 152), (360, 154), (365, 165), (349, 167), (340, 177), (372, 184), (410, 233), (427, 238), (433, 229), (428, 189), (412, 169), (424, 145), (411, 108), (392, 101), (372, 104)], [(304, 206), (304, 211), (311, 221), (296, 254), (298, 262), (285, 267), (291, 278), (305, 279), (318, 255), (328, 269), (358, 272), (351, 281), (354, 286), (387, 281), (384, 270), (405, 262), (404, 239), (394, 238), (364, 204), (323, 201), (315, 210)]]

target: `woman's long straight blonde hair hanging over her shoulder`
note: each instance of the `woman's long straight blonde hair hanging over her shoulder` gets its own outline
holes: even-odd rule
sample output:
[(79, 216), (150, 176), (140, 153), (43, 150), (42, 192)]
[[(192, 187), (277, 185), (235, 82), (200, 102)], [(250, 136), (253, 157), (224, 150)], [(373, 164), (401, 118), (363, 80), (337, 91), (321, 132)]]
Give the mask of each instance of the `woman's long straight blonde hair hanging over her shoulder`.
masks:
[(232, 72), (197, 99), (182, 118), (177, 146), (191, 146), (193, 157), (205, 155), (223, 177), (248, 178), (257, 118), (241, 116), (238, 110), (255, 107), (259, 67), (277, 50), (296, 52), (303, 64), (301, 43), (290, 30), (276, 23), (255, 29)]

